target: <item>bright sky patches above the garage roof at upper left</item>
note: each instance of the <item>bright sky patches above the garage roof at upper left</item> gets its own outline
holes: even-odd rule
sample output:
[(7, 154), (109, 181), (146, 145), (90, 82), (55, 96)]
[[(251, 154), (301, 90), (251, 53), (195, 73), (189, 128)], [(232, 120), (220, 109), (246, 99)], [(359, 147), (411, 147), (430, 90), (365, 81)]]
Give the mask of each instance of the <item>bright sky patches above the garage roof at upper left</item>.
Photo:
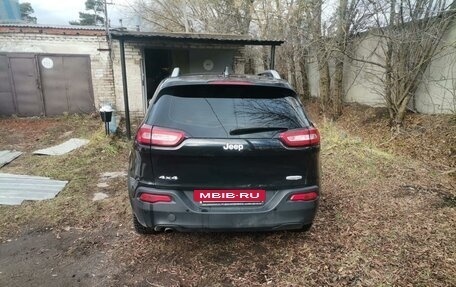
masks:
[[(35, 10), (33, 14), (38, 24), (68, 25), (69, 21), (79, 20), (79, 12), (85, 10), (86, 0), (19, 0), (29, 2)], [(128, 18), (124, 11), (126, 6), (133, 0), (108, 0), (108, 17), (111, 19), (111, 26), (120, 26), (120, 18)], [(124, 24), (131, 21), (125, 19)]]

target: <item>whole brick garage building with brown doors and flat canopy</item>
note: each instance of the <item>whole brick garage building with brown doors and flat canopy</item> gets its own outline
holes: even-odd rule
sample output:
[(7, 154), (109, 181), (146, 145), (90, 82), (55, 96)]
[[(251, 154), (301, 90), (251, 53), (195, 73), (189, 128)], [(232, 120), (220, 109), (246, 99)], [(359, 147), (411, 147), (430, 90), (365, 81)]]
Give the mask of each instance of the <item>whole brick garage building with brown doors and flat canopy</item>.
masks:
[(246, 45), (271, 46), (273, 59), (283, 43), (127, 30), (112, 30), (109, 39), (102, 27), (0, 24), (0, 115), (91, 113), (104, 103), (124, 113), (127, 95), (131, 114), (142, 116), (173, 67), (221, 73), (228, 66), (244, 73)]

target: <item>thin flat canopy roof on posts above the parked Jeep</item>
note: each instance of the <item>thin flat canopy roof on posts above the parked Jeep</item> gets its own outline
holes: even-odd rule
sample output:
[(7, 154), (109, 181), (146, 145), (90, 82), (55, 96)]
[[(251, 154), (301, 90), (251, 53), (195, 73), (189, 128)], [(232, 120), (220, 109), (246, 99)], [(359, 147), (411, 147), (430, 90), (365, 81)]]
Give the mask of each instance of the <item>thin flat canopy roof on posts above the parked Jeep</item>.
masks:
[(283, 40), (255, 39), (245, 35), (233, 34), (204, 34), (204, 33), (162, 33), (162, 32), (138, 32), (127, 30), (111, 30), (114, 39), (131, 40), (183, 40), (204, 43), (235, 43), (241, 45), (281, 45)]

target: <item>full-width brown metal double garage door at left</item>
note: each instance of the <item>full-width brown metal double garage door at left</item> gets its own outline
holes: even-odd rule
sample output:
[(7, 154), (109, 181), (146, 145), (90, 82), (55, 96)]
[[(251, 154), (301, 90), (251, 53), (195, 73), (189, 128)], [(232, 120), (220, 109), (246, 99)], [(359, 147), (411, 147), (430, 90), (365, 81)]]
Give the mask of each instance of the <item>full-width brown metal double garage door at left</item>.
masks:
[(95, 111), (89, 56), (0, 55), (0, 103), (0, 115)]

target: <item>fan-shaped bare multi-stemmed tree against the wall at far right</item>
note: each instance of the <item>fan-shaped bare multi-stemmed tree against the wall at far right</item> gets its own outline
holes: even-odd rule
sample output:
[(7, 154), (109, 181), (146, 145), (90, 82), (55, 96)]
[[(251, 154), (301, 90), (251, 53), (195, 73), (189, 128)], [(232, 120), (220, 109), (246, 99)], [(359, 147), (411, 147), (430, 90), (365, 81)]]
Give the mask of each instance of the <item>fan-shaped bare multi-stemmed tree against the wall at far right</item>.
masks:
[(424, 72), (442, 50), (441, 39), (454, 20), (456, 2), (384, 0), (368, 1), (366, 7), (374, 12), (375, 28), (368, 34), (378, 38), (372, 52), (380, 60), (346, 55), (380, 68), (377, 80), (383, 84), (391, 125), (400, 128)]

